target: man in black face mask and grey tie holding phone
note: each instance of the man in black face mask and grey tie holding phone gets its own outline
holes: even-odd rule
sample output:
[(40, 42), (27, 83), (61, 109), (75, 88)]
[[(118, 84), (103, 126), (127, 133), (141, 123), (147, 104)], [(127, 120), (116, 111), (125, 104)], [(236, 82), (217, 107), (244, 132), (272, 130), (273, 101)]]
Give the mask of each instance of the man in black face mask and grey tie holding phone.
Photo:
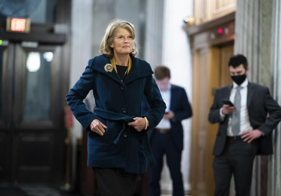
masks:
[(232, 174), (236, 196), (246, 196), (255, 155), (273, 154), (271, 133), (281, 120), (281, 108), (267, 87), (248, 81), (246, 57), (235, 55), (228, 66), (233, 84), (216, 91), (209, 113), (211, 123), (220, 123), (213, 149), (215, 196), (229, 195)]

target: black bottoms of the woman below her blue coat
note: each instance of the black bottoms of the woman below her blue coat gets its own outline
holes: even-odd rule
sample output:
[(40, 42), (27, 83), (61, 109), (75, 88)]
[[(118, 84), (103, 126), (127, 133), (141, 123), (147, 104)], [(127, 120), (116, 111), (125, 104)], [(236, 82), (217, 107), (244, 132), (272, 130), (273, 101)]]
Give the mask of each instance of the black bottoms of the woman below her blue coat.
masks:
[(93, 167), (101, 196), (131, 196), (137, 184), (138, 174), (121, 168)]

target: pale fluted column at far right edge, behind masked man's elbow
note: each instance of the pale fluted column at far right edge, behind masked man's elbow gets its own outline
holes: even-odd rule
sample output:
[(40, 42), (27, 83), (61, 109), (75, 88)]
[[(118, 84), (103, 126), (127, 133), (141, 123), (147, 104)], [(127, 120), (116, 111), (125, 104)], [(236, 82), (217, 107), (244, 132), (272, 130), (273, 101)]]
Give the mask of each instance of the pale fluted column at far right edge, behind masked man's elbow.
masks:
[[(273, 98), (281, 105), (281, 1), (273, 0), (271, 83)], [(273, 131), (273, 155), (268, 160), (268, 196), (281, 195), (281, 127)]]

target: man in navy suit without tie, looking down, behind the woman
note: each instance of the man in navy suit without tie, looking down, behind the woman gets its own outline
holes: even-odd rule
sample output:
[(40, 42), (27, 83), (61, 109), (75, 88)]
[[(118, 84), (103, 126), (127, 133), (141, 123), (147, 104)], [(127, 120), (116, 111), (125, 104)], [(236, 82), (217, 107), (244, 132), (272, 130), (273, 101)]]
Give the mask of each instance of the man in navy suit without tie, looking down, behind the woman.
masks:
[[(183, 128), (181, 120), (192, 116), (192, 110), (184, 88), (170, 84), (170, 70), (165, 66), (155, 69), (155, 78), (164, 102), (166, 113), (161, 122), (148, 132), (153, 155), (157, 166), (150, 168), (150, 196), (160, 196), (160, 175), (163, 166), (163, 155), (166, 154), (167, 165), (173, 180), (173, 195), (183, 196), (184, 187), (181, 175), (181, 151), (183, 149)], [(146, 100), (143, 111), (148, 111)]]

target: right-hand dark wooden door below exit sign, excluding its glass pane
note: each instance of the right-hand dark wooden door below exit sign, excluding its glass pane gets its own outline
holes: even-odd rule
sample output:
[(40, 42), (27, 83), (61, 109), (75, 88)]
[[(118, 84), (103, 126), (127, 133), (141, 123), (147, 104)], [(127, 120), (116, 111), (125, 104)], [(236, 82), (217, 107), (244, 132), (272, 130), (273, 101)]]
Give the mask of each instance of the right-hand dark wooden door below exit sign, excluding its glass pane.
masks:
[[(24, 121), (23, 117), (23, 100), (25, 97), (25, 83), (26, 83), (26, 54), (27, 52), (53, 52), (54, 57), (51, 62), (50, 67), (50, 119), (44, 121)], [(63, 165), (63, 154), (64, 148), (61, 143), (64, 141), (63, 126), (60, 122), (59, 109), (63, 107), (62, 103), (57, 101), (60, 96), (61, 86), (59, 84), (60, 76), (60, 56), (61, 56), (61, 46), (39, 46), (37, 48), (24, 48), (20, 44), (15, 44), (15, 73), (14, 73), (14, 92), (13, 92), (13, 125), (12, 126), (12, 164), (11, 164), (11, 180), (12, 182), (17, 179), (21, 179), (22, 173), (27, 170), (36, 173), (38, 170), (43, 174), (44, 171), (50, 171), (48, 176), (52, 177), (54, 182), (59, 183), (59, 179), (62, 178), (64, 170), (59, 170), (59, 172), (54, 172), (53, 169), (57, 167), (62, 167)], [(22, 165), (20, 161), (20, 144), (28, 144), (28, 140), (36, 139), (42, 141), (45, 145), (49, 147), (48, 162), (46, 166), (34, 165), (25, 166)], [(30, 143), (30, 142), (29, 142)], [(31, 144), (31, 143), (30, 143)], [(59, 145), (59, 146), (57, 146)], [(35, 147), (35, 146), (34, 146)], [(57, 149), (57, 150), (56, 150)], [(55, 153), (58, 152), (58, 153)], [(58, 175), (60, 174), (60, 175)], [(18, 177), (19, 176), (19, 177)], [(60, 177), (59, 177), (60, 176)], [(50, 178), (48, 177), (48, 178)], [(50, 181), (51, 178), (46, 181)], [(40, 182), (40, 180), (38, 180)], [(40, 182), (44, 183), (44, 181)], [(49, 182), (48, 182), (49, 183)]]

